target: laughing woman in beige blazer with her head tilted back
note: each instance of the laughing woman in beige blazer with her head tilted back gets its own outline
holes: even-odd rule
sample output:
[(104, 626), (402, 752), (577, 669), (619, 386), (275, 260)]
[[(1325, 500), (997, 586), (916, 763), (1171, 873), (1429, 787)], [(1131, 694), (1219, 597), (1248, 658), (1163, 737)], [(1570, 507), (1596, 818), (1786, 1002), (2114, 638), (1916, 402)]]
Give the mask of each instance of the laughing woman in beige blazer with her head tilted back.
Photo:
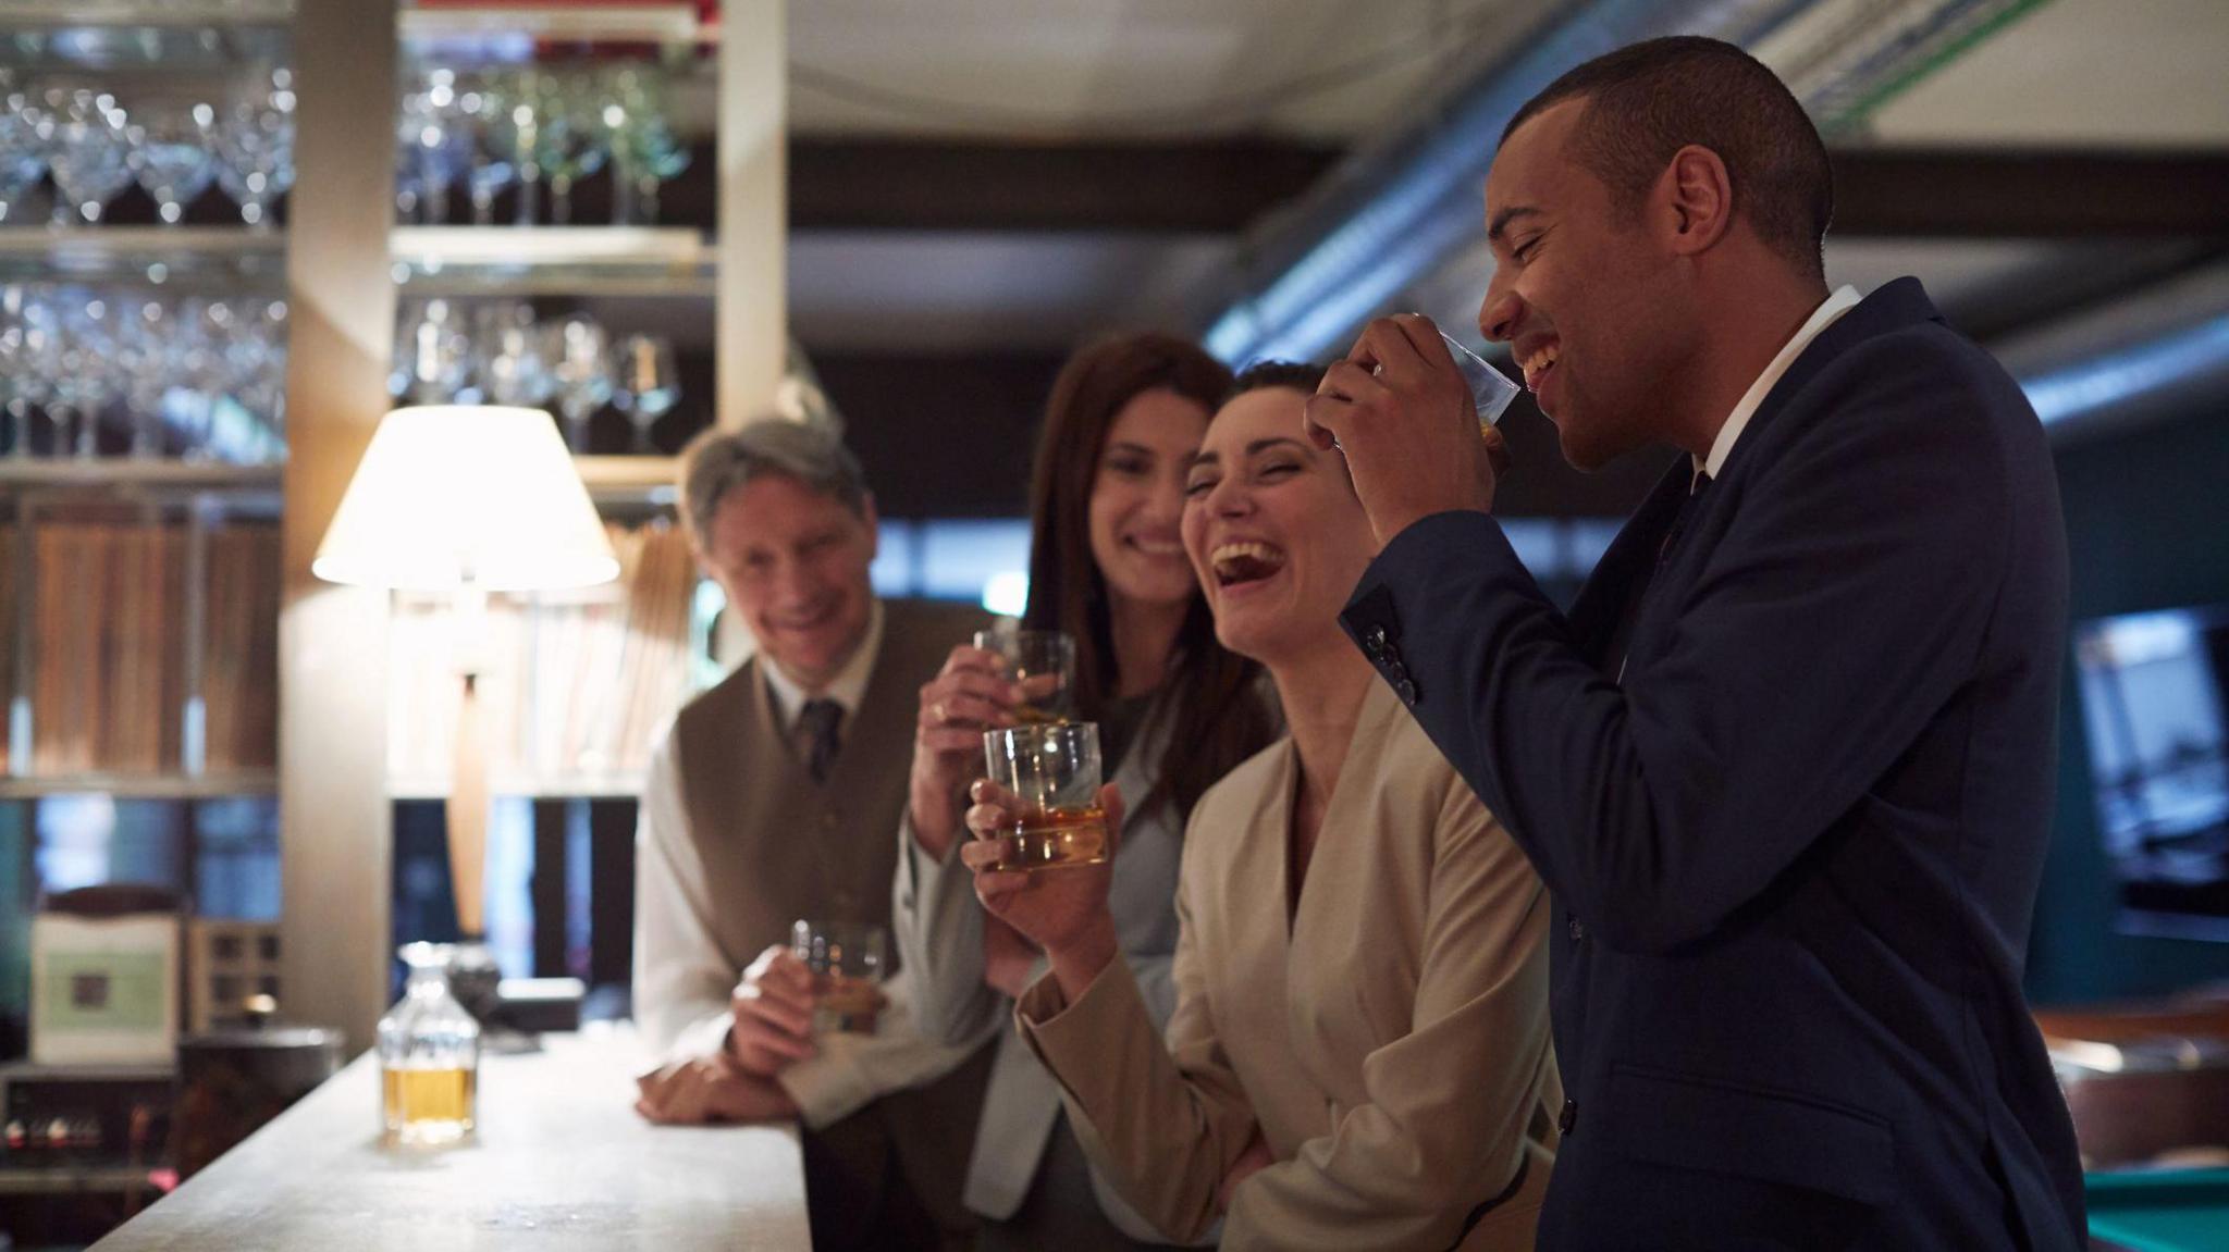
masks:
[[(1193, 809), (1166, 1036), (1119, 960), (1106, 867), (990, 869), (1008, 820), (990, 784), (963, 858), (1050, 958), (1016, 1002), (1023, 1038), (1166, 1236), (1221, 1216), (1224, 1248), (1531, 1248), (1560, 1101), (1549, 904), (1340, 633), (1373, 541), (1340, 457), (1302, 437), (1317, 376), (1244, 374), (1186, 483), (1215, 633), (1268, 666), (1291, 735)], [(1119, 795), (1101, 802), (1119, 822)]]

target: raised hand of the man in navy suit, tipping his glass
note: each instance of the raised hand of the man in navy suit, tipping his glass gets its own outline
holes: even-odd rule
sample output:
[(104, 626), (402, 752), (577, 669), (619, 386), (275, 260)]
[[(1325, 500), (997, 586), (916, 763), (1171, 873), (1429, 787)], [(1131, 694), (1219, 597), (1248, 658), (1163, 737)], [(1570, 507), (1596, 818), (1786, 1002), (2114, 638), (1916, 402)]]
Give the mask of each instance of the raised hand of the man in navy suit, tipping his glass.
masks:
[(1380, 544), (1435, 512), (1493, 508), (1509, 450), (1478, 426), (1471, 390), (1431, 319), (1382, 316), (1324, 372), (1304, 426), (1337, 446)]

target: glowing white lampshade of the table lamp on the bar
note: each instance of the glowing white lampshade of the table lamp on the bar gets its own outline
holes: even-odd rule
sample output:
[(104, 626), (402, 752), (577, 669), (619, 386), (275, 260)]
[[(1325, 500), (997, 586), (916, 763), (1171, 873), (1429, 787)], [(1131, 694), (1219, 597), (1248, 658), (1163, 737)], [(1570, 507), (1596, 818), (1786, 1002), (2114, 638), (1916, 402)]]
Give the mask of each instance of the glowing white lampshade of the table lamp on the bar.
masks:
[(310, 570), (395, 590), (555, 590), (620, 561), (551, 414), (421, 405), (379, 421)]

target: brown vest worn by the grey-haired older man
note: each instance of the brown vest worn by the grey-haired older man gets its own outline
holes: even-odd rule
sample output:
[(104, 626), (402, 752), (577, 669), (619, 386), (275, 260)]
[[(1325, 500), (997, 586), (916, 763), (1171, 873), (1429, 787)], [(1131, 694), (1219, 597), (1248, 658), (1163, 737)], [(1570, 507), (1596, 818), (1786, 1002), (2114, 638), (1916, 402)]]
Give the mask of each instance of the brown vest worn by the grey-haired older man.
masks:
[[(762, 657), (675, 715), (689, 833), (704, 858), (713, 931), (738, 974), (789, 942), (798, 918), (889, 925), (921, 684), (983, 622), (972, 606), (883, 601), (883, 648), (820, 784), (776, 724)], [(894, 945), (889, 958), (896, 967)]]

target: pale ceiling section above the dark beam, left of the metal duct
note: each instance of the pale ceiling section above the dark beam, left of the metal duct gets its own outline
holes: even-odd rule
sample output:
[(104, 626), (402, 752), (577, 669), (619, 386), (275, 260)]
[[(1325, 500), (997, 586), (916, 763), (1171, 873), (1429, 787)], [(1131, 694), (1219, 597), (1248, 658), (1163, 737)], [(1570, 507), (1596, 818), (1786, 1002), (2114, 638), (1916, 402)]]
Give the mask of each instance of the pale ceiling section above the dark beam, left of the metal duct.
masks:
[(1355, 138), (1547, 0), (814, 0), (789, 9), (796, 134)]

